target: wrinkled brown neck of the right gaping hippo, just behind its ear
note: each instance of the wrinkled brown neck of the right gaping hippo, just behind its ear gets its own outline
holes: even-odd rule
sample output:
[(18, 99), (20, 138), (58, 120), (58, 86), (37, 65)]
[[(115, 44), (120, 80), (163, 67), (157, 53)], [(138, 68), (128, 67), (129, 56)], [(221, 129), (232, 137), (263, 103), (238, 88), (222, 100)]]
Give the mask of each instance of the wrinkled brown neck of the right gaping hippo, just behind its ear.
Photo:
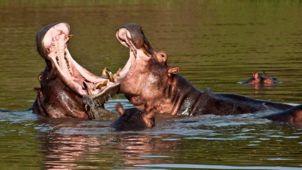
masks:
[(172, 76), (166, 88), (166, 98), (172, 103), (172, 111), (170, 113), (172, 115), (189, 115), (191, 108), (201, 94), (203, 92), (183, 76)]

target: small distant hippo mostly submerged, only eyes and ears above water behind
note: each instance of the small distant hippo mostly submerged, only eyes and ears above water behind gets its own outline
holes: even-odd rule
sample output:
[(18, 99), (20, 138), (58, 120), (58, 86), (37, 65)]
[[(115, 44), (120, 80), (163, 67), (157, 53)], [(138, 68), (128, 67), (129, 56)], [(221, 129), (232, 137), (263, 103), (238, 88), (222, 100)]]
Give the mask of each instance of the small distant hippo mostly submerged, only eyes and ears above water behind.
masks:
[(272, 78), (267, 77), (265, 74), (265, 71), (263, 71), (262, 75), (258, 74), (257, 71), (254, 71), (253, 77), (249, 78), (242, 84), (257, 84), (257, 83), (262, 83), (264, 85), (269, 86), (269, 85), (273, 85), (274, 83), (278, 83), (278, 80), (275, 77), (272, 77)]

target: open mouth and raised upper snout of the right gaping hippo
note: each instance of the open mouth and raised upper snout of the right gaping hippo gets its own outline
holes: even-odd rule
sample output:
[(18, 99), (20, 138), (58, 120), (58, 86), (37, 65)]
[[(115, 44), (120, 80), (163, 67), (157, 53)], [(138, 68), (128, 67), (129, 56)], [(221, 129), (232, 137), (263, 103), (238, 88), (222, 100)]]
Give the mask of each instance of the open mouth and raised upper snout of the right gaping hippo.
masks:
[(136, 23), (128, 23), (117, 29), (116, 38), (121, 44), (130, 48), (130, 57), (124, 68), (116, 75), (117, 79), (126, 78), (139, 60), (148, 60), (154, 53), (148, 39), (145, 37), (143, 28)]

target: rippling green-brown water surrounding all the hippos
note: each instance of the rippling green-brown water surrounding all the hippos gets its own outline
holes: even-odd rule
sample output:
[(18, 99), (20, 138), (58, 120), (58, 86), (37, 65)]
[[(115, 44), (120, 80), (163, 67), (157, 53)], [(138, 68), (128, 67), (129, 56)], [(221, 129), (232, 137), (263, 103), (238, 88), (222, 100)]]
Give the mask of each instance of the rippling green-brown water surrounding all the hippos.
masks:
[[(18, 4), (18, 5), (17, 5)], [(302, 103), (302, 3), (282, 1), (0, 1), (0, 169), (302, 169), (302, 124), (257, 115), (204, 115), (162, 121), (149, 130), (113, 132), (112, 121), (50, 119), (26, 111), (45, 67), (35, 36), (67, 21), (69, 51), (96, 75), (123, 67), (115, 38), (139, 23), (155, 50), (196, 87)], [(265, 71), (282, 83), (238, 82)], [(105, 107), (114, 111), (115, 95)]]

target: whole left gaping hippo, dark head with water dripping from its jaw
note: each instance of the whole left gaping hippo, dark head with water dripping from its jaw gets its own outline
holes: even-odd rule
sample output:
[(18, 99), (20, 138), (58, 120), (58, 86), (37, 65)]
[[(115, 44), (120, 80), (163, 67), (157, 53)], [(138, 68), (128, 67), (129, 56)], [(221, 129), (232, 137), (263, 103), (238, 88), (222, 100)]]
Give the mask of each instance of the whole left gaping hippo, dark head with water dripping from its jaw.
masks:
[[(66, 22), (49, 24), (38, 32), (37, 50), (46, 67), (38, 76), (41, 87), (36, 88), (33, 111), (56, 118), (95, 119), (99, 114), (95, 112), (106, 112), (103, 104), (116, 94), (120, 83), (115, 79), (108, 82), (79, 65), (67, 49), (69, 33)], [(108, 70), (105, 74), (113, 76)]]

